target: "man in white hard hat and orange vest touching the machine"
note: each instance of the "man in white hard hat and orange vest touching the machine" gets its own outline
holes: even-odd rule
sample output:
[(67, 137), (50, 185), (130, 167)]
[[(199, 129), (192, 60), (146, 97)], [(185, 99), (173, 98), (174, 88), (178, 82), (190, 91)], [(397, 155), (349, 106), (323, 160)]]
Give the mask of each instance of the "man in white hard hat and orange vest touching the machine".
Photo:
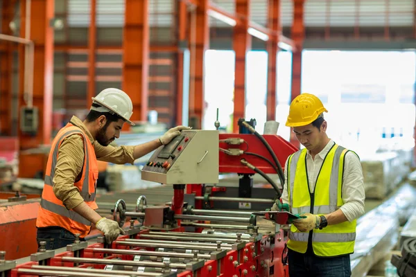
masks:
[(113, 220), (96, 213), (97, 160), (111, 163), (133, 163), (135, 159), (166, 145), (182, 129), (177, 126), (163, 136), (136, 146), (110, 145), (119, 138), (123, 124), (132, 116), (132, 101), (120, 89), (104, 89), (92, 98), (92, 107), (84, 121), (76, 116), (55, 136), (46, 165), (45, 184), (37, 216), (37, 243), (46, 242), (46, 249), (58, 249), (80, 239), (91, 229), (91, 223), (102, 231), (107, 243), (123, 230)]

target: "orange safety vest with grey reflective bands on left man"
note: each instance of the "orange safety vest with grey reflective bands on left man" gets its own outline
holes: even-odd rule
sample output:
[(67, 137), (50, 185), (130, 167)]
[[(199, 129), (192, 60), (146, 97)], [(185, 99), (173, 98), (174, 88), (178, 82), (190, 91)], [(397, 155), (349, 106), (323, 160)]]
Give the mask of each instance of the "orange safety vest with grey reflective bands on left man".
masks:
[(80, 238), (84, 238), (91, 229), (91, 222), (85, 219), (85, 217), (78, 215), (75, 211), (65, 208), (62, 201), (53, 193), (53, 175), (55, 174), (56, 161), (58, 160), (58, 150), (62, 141), (71, 135), (77, 135), (83, 138), (85, 153), (81, 178), (73, 185), (78, 188), (80, 195), (88, 206), (94, 210), (98, 208), (95, 202), (98, 165), (94, 146), (82, 129), (68, 123), (60, 129), (51, 145), (51, 152), (49, 152), (48, 163), (46, 164), (45, 184), (36, 226), (38, 228), (60, 226), (73, 234), (79, 233)]

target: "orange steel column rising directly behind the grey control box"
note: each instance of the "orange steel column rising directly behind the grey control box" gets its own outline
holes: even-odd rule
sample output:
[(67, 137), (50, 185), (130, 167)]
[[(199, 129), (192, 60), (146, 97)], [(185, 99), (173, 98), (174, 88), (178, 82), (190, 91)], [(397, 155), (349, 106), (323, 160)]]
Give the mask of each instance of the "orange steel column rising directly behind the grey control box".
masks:
[[(198, 0), (196, 24), (192, 24), (191, 35), (191, 90), (189, 93), (189, 118), (194, 118), (193, 127), (202, 128), (204, 115), (204, 57), (209, 48), (209, 0)], [(195, 29), (196, 28), (196, 29)]]

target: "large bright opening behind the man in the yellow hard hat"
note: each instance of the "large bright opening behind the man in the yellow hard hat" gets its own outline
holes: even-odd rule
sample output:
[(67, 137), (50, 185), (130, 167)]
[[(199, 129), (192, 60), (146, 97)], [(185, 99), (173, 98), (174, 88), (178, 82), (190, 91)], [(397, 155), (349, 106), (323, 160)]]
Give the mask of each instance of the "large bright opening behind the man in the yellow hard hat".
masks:
[(322, 99), (327, 133), (337, 143), (371, 154), (384, 139), (413, 140), (414, 51), (304, 51), (302, 57), (302, 92)]

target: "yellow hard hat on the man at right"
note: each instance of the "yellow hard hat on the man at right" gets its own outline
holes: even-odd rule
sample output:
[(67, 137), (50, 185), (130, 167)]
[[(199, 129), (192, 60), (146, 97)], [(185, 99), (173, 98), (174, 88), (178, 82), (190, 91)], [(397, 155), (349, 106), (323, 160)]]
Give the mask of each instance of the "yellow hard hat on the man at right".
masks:
[(286, 126), (299, 127), (308, 125), (313, 123), (324, 111), (328, 112), (318, 97), (313, 94), (302, 93), (291, 102)]

